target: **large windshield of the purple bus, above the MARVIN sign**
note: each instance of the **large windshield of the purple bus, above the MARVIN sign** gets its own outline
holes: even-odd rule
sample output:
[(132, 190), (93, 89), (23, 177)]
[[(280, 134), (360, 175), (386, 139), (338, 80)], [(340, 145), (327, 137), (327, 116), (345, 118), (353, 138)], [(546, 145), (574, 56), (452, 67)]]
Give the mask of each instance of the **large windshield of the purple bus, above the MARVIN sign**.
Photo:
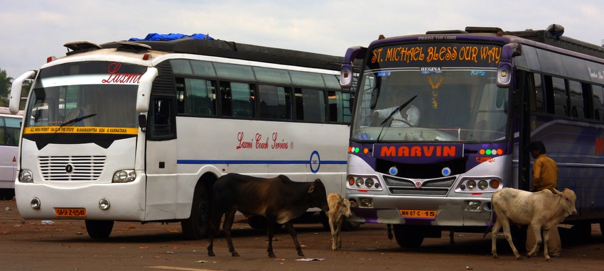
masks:
[(454, 62), (447, 67), (453, 66), (449, 60), (426, 67), (425, 62), (370, 62), (365, 67), (353, 140), (505, 140), (508, 93), (497, 87), (494, 64), (468, 67)]

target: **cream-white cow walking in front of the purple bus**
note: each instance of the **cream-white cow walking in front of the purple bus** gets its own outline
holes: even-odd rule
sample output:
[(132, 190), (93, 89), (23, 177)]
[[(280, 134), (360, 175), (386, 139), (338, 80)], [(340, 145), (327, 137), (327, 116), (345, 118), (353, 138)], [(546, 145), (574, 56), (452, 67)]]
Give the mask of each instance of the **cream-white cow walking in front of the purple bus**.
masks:
[[(519, 225), (532, 225), (535, 231), (536, 243), (534, 248), (527, 254), (527, 258), (536, 255), (539, 245), (543, 242), (545, 260), (550, 260), (547, 243), (549, 240), (549, 229), (557, 227), (568, 216), (577, 214), (575, 192), (564, 189), (563, 192), (549, 189), (540, 192), (527, 192), (518, 189), (504, 188), (493, 193), (491, 199), (492, 208), (497, 215), (497, 221), (492, 228), (492, 254), (497, 259), (497, 233), (503, 228), (503, 234), (509, 246), (512, 247), (514, 256), (522, 260), (509, 233), (509, 223)], [(543, 240), (541, 240), (541, 229), (543, 229)]]

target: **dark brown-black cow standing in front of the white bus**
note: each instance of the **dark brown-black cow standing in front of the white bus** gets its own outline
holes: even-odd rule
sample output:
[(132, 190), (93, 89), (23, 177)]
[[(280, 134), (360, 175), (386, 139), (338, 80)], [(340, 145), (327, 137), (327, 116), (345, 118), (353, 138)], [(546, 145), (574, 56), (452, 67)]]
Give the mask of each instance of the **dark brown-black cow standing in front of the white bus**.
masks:
[(237, 211), (247, 217), (266, 217), (266, 232), (269, 237), (269, 248), (266, 251), (269, 257), (275, 258), (273, 236), (276, 223), (285, 224), (296, 245), (298, 255), (304, 256), (291, 219), (302, 216), (309, 208), (318, 207), (323, 211), (329, 209), (325, 186), (320, 179), (314, 182), (293, 182), (284, 175), (265, 179), (230, 173), (218, 178), (212, 191), (214, 197), (208, 229), (210, 243), (207, 244), (207, 255), (210, 256), (215, 255), (214, 235), (220, 228), (223, 214), (225, 222), (222, 223), (222, 229), (225, 232), (229, 251), (232, 256), (239, 256), (231, 240), (231, 227)]

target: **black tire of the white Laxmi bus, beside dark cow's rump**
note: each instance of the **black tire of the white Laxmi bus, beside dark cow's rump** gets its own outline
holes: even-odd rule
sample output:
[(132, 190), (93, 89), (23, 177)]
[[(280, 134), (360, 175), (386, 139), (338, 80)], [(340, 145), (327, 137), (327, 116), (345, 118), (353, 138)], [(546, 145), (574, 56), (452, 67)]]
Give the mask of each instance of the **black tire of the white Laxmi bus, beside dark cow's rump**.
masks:
[(180, 228), (188, 240), (200, 240), (207, 237), (207, 228), (210, 225), (210, 197), (207, 188), (198, 184), (193, 193), (193, 204), (188, 219), (180, 221)]

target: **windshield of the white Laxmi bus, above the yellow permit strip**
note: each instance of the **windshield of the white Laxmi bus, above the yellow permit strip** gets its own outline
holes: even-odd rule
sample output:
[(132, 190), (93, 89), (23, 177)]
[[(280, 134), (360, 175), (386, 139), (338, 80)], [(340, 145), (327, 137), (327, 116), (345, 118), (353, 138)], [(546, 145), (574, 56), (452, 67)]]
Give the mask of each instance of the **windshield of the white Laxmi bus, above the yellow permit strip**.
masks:
[[(144, 67), (129, 69), (126, 75), (118, 75), (117, 72), (110, 73), (111, 65), (106, 62), (80, 63), (42, 70), (31, 93), (31, 102), (26, 111), (26, 118), (30, 118), (31, 122), (26, 123), (26, 127), (136, 128), (138, 82), (130, 72), (134, 71), (139, 76)], [(80, 72), (63, 72), (70, 70)], [(81, 70), (88, 70), (92, 74), (82, 74)], [(123, 67), (122, 70), (127, 71)], [(118, 76), (122, 79), (117, 79)], [(53, 132), (53, 129), (48, 131)]]

